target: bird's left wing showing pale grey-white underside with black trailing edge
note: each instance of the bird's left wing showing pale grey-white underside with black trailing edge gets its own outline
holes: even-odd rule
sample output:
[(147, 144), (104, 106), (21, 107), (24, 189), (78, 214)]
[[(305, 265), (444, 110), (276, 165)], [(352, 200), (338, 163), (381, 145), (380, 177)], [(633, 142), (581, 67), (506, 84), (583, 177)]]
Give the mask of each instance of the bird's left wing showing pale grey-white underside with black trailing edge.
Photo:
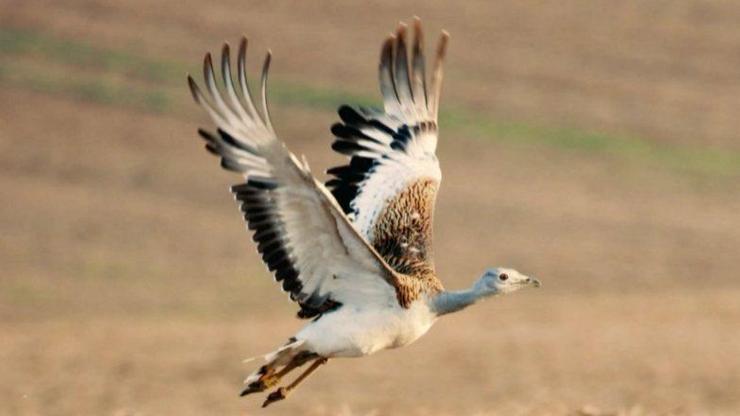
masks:
[(262, 70), (262, 114), (255, 108), (245, 71), (247, 40), (238, 57), (240, 92), (231, 76), (229, 47), (221, 60), (223, 92), (206, 55), (204, 77), (209, 96), (191, 77), (195, 101), (217, 126), (199, 130), (206, 148), (221, 165), (244, 175), (233, 186), (241, 211), (263, 261), (290, 298), (300, 317), (316, 316), (341, 304), (387, 304), (397, 298), (398, 276), (357, 233), (326, 188), (278, 140), (267, 111), (266, 82), (270, 54)]

